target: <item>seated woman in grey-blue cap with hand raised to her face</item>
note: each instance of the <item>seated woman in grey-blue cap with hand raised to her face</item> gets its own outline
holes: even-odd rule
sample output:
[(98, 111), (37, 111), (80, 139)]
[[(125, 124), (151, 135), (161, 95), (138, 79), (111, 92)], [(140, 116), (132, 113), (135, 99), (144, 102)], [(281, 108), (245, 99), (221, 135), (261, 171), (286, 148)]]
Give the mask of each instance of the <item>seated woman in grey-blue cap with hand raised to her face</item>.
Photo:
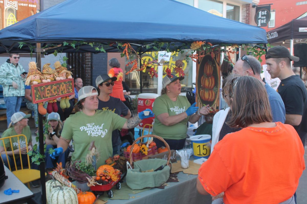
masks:
[(65, 163), (70, 152), (69, 148), (67, 148), (64, 154), (60, 154), (59, 156), (57, 156), (56, 159), (52, 159), (49, 154), (49, 149), (56, 148), (63, 129), (63, 123), (60, 120), (59, 113), (54, 113), (54, 112), (50, 113), (47, 117), (47, 121), (48, 121), (48, 134), (45, 135), (46, 137), (45, 144), (47, 145), (45, 152), (46, 169), (54, 168), (55, 161), (59, 164), (60, 162), (62, 162), (62, 167), (65, 168)]

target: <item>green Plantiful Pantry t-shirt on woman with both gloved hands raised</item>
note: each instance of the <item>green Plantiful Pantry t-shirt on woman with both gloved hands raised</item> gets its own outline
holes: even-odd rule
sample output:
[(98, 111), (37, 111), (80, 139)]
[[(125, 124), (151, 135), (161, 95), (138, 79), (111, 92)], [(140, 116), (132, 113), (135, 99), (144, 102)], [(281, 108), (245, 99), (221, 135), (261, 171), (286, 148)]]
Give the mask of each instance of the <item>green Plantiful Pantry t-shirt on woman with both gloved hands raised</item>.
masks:
[(176, 101), (172, 101), (166, 94), (156, 98), (153, 103), (153, 113), (156, 115), (153, 124), (153, 135), (161, 136), (163, 139), (185, 139), (189, 117), (177, 124), (166, 126), (158, 120), (157, 116), (161, 113), (169, 113), (169, 116), (178, 115), (185, 112), (190, 106), (191, 104), (185, 96), (177, 96)]

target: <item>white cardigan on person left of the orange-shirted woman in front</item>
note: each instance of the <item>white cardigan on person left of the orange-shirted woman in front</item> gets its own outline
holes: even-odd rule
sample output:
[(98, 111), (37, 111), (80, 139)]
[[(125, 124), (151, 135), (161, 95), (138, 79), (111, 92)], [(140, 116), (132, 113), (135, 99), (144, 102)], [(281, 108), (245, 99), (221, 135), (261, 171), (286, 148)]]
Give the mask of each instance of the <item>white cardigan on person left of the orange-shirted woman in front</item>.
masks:
[(216, 143), (219, 141), (220, 132), (226, 120), (229, 109), (230, 109), (229, 107), (226, 108), (225, 110), (222, 109), (219, 112), (217, 112), (213, 117), (211, 153), (213, 151), (214, 145), (216, 145)]

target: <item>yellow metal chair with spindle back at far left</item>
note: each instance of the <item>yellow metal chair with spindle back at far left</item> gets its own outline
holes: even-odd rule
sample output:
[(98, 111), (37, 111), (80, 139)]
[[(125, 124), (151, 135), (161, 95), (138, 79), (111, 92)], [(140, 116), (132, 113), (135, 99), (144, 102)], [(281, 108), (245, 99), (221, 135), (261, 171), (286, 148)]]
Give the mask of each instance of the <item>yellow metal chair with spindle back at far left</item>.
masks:
[[(17, 169), (17, 165), (16, 165), (16, 158), (15, 158), (15, 154), (14, 154), (14, 151), (13, 152), (13, 160), (14, 160), (14, 165), (15, 165), (15, 170), (12, 171), (12, 167), (10, 165), (10, 162), (8, 162), (9, 164), (9, 169), (10, 171), (12, 171), (12, 173), (14, 173), (14, 175), (19, 179), (21, 180), (22, 183), (24, 184), (28, 184), (28, 188), (30, 189), (30, 184), (29, 182), (31, 181), (34, 181), (34, 180), (37, 180), (37, 179), (40, 179), (41, 176), (40, 176), (40, 171), (39, 170), (36, 170), (36, 169), (31, 169), (30, 168), (30, 158), (29, 158), (29, 155), (27, 154), (27, 158), (28, 158), (28, 169), (25, 169), (23, 167), (23, 164), (22, 164), (22, 159), (21, 159), (21, 151), (20, 151), (20, 140), (19, 138), (20, 137), (24, 137), (25, 138), (25, 145), (27, 147), (27, 153), (28, 153), (28, 142), (27, 142), (27, 137), (25, 135), (14, 135), (14, 136), (9, 136), (9, 137), (5, 137), (5, 138), (0, 138), (0, 142), (3, 143), (3, 147), (4, 147), (4, 150), (5, 150), (5, 154), (6, 154), (6, 159), (7, 161), (9, 161), (9, 158), (10, 157), (9, 155), (7, 155), (7, 151), (6, 151), (6, 146), (5, 146), (5, 143), (4, 143), (4, 139), (10, 139), (10, 147), (12, 150), (13, 149), (13, 144), (12, 144), (12, 138), (14, 137), (17, 137), (17, 141), (18, 141), (18, 149), (19, 149), (19, 158), (20, 158), (20, 162), (21, 162), (21, 169)], [(2, 140), (2, 141), (1, 141)], [(18, 155), (18, 154), (17, 154)], [(1, 160), (3, 162), (3, 159), (2, 159), (2, 156), (1, 157)], [(11, 157), (12, 158), (12, 157)]]

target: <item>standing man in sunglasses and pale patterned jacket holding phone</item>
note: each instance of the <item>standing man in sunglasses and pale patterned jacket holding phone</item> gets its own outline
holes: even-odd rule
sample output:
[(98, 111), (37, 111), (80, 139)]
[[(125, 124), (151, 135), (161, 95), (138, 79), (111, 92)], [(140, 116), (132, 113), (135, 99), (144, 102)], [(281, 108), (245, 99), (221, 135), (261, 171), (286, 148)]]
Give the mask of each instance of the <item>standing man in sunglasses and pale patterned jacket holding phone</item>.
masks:
[(17, 113), (21, 106), (21, 97), (25, 95), (25, 70), (18, 63), (18, 53), (10, 53), (10, 58), (0, 68), (0, 84), (3, 86), (3, 99), (6, 103), (7, 125), (11, 116)]

